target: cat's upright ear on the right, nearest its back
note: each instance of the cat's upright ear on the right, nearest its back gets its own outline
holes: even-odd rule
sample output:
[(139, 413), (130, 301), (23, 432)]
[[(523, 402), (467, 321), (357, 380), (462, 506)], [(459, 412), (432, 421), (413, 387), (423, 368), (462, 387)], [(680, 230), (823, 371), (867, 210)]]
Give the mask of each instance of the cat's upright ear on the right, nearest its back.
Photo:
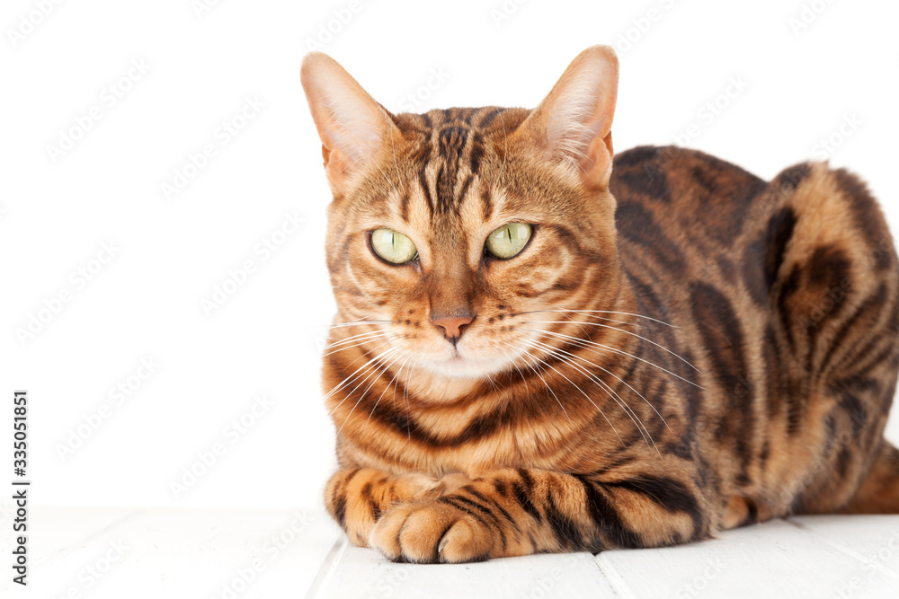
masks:
[(612, 48), (585, 49), (519, 128), (549, 160), (576, 169), (591, 189), (609, 185), (618, 78)]

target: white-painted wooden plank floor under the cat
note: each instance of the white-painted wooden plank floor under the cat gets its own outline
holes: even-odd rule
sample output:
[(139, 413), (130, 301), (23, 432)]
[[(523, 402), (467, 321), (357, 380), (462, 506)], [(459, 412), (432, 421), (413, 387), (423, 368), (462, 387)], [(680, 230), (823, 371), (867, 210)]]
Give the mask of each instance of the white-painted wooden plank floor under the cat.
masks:
[[(899, 516), (816, 516), (664, 550), (394, 564), (317, 511), (33, 507), (2, 597), (899, 597)], [(0, 554), (11, 562), (9, 522)]]

